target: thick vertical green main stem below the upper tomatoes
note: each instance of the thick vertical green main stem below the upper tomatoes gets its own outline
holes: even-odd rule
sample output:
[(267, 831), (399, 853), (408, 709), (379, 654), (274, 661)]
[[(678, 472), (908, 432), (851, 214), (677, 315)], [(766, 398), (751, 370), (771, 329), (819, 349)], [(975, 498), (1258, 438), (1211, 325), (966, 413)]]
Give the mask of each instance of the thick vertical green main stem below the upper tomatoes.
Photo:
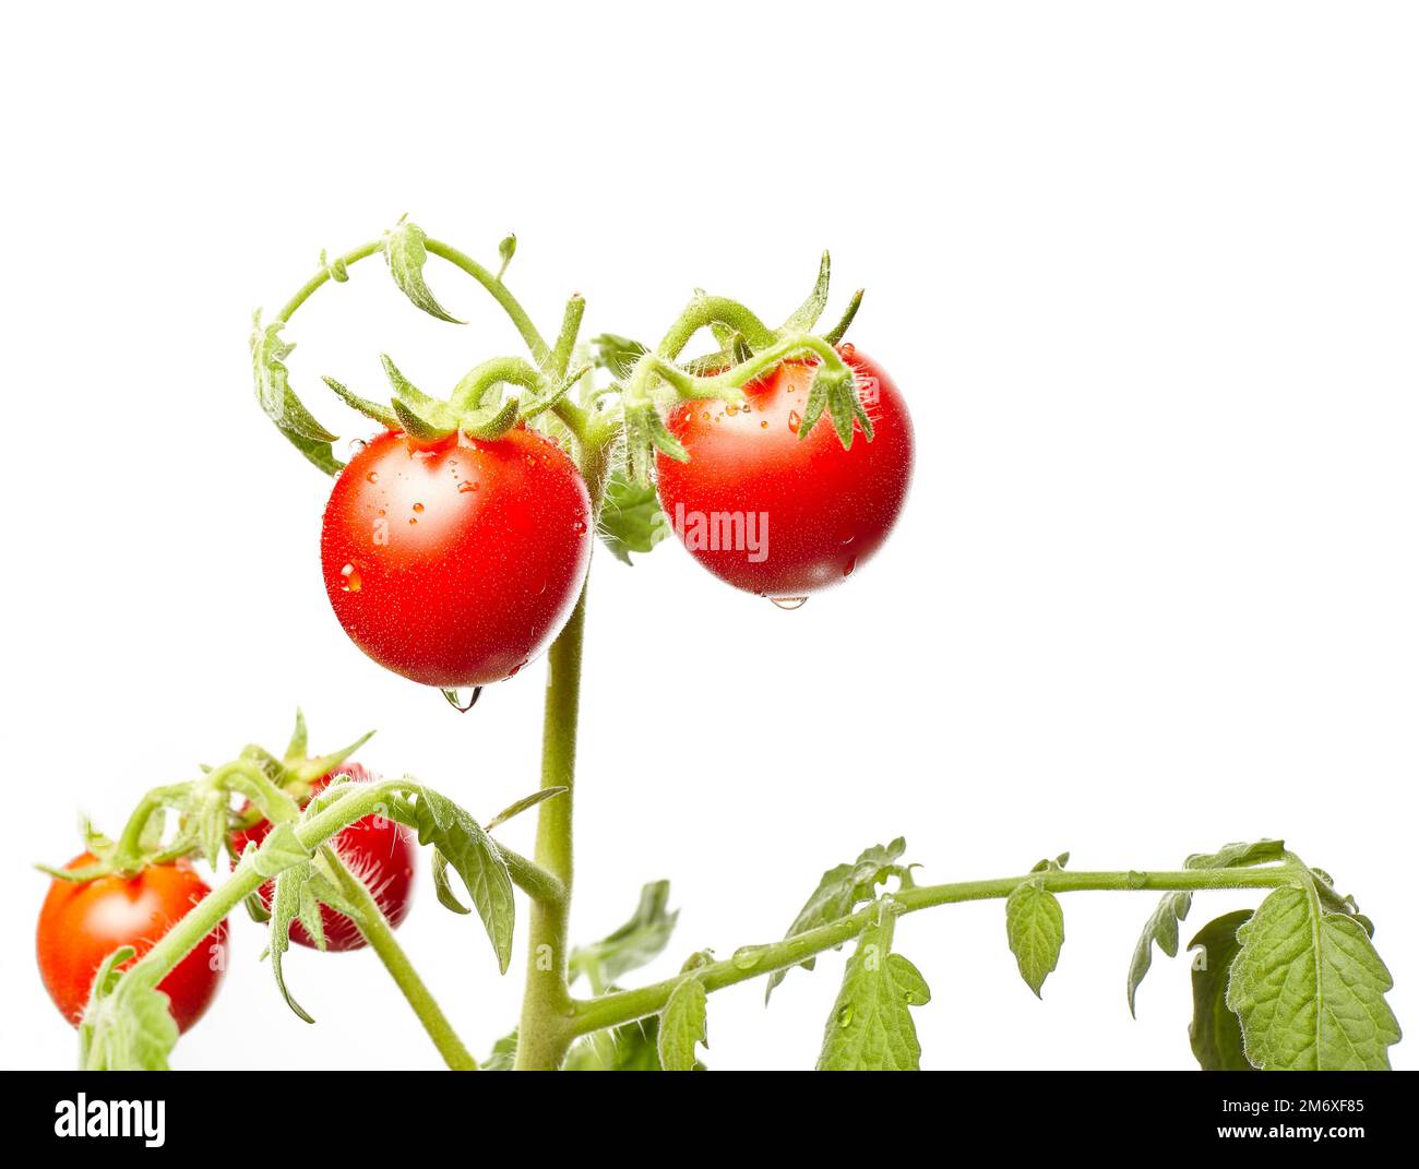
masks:
[(566, 627), (548, 653), (542, 715), (542, 787), (568, 790), (538, 809), (536, 863), (561, 881), (561, 897), (531, 908), (526, 989), (518, 1024), (519, 1071), (555, 1071), (572, 1043), (572, 995), (566, 982), (566, 925), (572, 902), (572, 807), (576, 721), (580, 708), (586, 586)]

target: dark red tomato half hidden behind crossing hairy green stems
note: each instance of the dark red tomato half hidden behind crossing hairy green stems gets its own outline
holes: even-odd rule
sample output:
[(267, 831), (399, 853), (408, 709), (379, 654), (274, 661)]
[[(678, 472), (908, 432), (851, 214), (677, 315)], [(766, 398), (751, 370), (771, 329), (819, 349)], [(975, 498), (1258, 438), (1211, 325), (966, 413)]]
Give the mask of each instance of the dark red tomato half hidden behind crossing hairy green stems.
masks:
[[(359, 763), (342, 763), (326, 776), (321, 776), (312, 785), (312, 794), (319, 792), (335, 776), (349, 776), (356, 783), (368, 783), (376, 776)], [(245, 831), (233, 834), (233, 844), (237, 855), (247, 847), (247, 843), (260, 844), (271, 831), (271, 821), (263, 820)], [(419, 844), (413, 834), (403, 824), (383, 816), (366, 816), (356, 820), (348, 829), (342, 829), (331, 838), (335, 854), (345, 861), (365, 887), (373, 894), (380, 912), (390, 928), (397, 926), (409, 914), (410, 894), (414, 884), (414, 863), (419, 857)], [(275, 897), (275, 881), (267, 881), (260, 890), (261, 904), (271, 908), (271, 898)], [(332, 951), (359, 949), (365, 945), (365, 938), (348, 916), (338, 914), (329, 905), (321, 907), (321, 925), (325, 929), (325, 948)], [(298, 921), (291, 922), (291, 941), (302, 946), (315, 948), (315, 942), (305, 926)]]

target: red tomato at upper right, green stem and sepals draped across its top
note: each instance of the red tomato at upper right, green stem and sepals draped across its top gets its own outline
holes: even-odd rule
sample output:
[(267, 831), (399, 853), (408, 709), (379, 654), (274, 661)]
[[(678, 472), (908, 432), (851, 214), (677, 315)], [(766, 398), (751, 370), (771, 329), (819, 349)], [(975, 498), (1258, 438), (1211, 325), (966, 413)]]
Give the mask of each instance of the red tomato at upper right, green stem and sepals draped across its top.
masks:
[(658, 455), (660, 504), (681, 543), (736, 589), (786, 600), (839, 583), (881, 546), (907, 499), (914, 438), (901, 392), (851, 345), (839, 353), (870, 443), (856, 427), (843, 450), (826, 411), (799, 440), (816, 359), (751, 382), (742, 409), (690, 401), (667, 420), (690, 461)]

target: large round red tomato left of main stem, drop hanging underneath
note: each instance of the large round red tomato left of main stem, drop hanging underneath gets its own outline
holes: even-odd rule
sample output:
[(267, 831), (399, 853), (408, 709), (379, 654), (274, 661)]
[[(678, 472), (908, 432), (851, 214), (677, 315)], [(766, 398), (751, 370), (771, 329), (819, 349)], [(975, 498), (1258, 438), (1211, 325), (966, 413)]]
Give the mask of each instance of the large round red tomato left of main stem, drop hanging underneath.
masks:
[(350, 640), (424, 685), (508, 678), (561, 631), (592, 555), (576, 465), (518, 427), (423, 447), (387, 431), (335, 481), (325, 592)]

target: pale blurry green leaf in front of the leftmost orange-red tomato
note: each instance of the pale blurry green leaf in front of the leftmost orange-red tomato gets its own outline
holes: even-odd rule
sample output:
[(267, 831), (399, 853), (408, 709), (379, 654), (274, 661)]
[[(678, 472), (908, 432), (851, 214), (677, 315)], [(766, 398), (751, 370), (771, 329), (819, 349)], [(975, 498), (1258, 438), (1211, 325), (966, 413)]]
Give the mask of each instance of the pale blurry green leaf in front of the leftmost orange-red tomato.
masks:
[(79, 1067), (85, 1071), (167, 1071), (177, 1023), (162, 990), (119, 972), (135, 955), (132, 946), (114, 951), (94, 976), (79, 1021)]

